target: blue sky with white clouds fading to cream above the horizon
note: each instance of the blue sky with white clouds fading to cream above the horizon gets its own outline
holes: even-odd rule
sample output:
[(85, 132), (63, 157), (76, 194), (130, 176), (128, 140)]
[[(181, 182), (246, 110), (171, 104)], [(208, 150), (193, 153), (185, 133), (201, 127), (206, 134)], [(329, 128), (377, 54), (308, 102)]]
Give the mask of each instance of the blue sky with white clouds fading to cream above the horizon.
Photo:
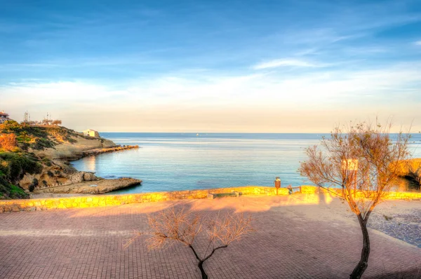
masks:
[(421, 130), (421, 1), (0, 0), (0, 111), (75, 130)]

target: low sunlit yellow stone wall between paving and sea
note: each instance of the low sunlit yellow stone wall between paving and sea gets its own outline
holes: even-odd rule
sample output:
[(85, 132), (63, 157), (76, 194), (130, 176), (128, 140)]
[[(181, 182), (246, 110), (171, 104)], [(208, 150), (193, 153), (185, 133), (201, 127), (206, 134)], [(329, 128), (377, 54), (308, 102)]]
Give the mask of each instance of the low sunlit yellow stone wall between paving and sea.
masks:
[[(340, 191), (340, 189), (337, 189)], [(58, 208), (83, 208), (98, 207), (107, 205), (125, 205), (128, 203), (149, 203), (162, 200), (180, 200), (186, 198), (207, 198), (208, 193), (231, 193), (232, 191), (241, 192), (242, 195), (260, 195), (275, 196), (276, 189), (267, 186), (243, 186), (234, 188), (218, 188), (192, 191), (171, 191), (154, 193), (135, 193), (126, 195), (96, 195), (96, 196), (77, 196), (71, 198), (39, 198), (30, 200), (0, 200), (1, 212), (19, 212), (34, 210), (50, 210)], [(301, 186), (301, 193), (314, 195), (326, 190), (319, 189), (316, 186)], [(336, 191), (336, 190), (333, 190)], [(288, 189), (281, 188), (279, 196), (288, 195)], [(390, 199), (419, 200), (421, 193), (391, 192)]]

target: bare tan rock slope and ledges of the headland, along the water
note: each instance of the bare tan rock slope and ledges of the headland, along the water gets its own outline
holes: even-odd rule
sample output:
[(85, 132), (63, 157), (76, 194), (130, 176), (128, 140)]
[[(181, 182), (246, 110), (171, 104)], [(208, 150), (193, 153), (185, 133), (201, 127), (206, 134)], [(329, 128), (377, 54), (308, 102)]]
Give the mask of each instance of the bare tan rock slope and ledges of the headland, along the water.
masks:
[(76, 170), (69, 161), (79, 160), (85, 156), (96, 156), (109, 152), (138, 149), (138, 145), (117, 145), (103, 138), (86, 139), (75, 137), (75, 142), (59, 144), (54, 148), (34, 151), (42, 158), (43, 169), (38, 174), (25, 174), (20, 179), (19, 186), (32, 194), (33, 198), (40, 195), (57, 194), (100, 194), (108, 193), (142, 183), (140, 179), (121, 177), (104, 179), (96, 177), (93, 172)]

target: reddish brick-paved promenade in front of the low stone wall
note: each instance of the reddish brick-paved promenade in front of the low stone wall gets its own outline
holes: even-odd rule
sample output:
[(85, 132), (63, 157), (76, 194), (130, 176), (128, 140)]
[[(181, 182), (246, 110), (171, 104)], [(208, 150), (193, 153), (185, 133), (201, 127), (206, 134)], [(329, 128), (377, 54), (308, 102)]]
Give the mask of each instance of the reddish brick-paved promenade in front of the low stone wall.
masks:
[[(348, 278), (362, 237), (346, 205), (338, 200), (306, 205), (294, 198), (184, 201), (206, 214), (253, 213), (257, 231), (206, 261), (209, 277)], [(133, 229), (147, 230), (147, 213), (174, 204), (0, 214), (0, 278), (200, 278), (183, 245), (148, 252), (142, 237), (123, 249)], [(420, 248), (373, 229), (370, 240), (364, 278), (421, 278)]]

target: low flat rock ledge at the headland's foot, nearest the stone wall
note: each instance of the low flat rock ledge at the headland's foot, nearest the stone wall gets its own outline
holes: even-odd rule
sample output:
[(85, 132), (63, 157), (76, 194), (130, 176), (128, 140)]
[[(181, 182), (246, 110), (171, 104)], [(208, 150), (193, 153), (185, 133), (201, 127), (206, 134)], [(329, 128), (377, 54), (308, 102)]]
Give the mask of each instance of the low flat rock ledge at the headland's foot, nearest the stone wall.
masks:
[(136, 186), (141, 183), (142, 180), (140, 179), (127, 177), (119, 179), (98, 179), (65, 186), (39, 189), (34, 191), (34, 193), (108, 193), (114, 190)]

